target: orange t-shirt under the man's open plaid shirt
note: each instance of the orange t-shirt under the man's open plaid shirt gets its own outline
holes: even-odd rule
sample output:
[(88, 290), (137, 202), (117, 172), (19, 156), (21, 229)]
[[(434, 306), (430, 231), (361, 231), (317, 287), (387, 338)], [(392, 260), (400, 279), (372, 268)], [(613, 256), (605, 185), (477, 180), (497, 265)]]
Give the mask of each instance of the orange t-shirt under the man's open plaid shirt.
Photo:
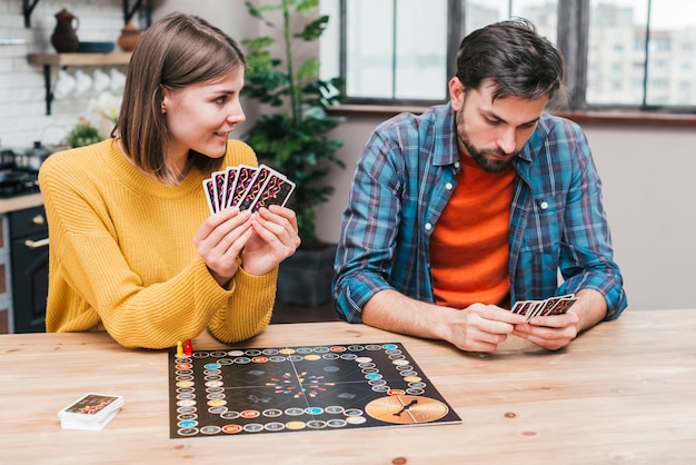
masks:
[(481, 169), (463, 157), (457, 187), (430, 237), (438, 305), (465, 308), (480, 301), (509, 306), (509, 218), (515, 181), (510, 166)]

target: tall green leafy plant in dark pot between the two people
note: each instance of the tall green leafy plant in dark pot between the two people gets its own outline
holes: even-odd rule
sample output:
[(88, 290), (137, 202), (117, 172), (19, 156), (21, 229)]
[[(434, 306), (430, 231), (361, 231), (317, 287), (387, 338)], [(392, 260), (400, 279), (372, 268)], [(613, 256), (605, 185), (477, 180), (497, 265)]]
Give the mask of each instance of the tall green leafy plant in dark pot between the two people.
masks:
[[(318, 16), (319, 0), (279, 0), (255, 7), (247, 1), (249, 14), (276, 28), (282, 37), (281, 58), (269, 48), (272, 37), (246, 39), (248, 70), (243, 95), (278, 111), (262, 115), (243, 135), (259, 161), (272, 166), (295, 181), (288, 206), (297, 215), (302, 245), (280, 265), (278, 299), (288, 304), (316, 306), (331, 298), (330, 279), (336, 244), (319, 240), (315, 207), (329, 200), (334, 187), (322, 182), (331, 166), (345, 168), (336, 154), (342, 140), (327, 133), (342, 121), (327, 115), (327, 108), (340, 100), (342, 80), (319, 79), (316, 57), (298, 63), (296, 52), (302, 42), (314, 42), (326, 29), (328, 16)], [(315, 267), (321, 267), (314, 269)], [(307, 275), (307, 276), (301, 276)], [(295, 283), (295, 279), (300, 279)], [(317, 287), (318, 288), (315, 288)]]

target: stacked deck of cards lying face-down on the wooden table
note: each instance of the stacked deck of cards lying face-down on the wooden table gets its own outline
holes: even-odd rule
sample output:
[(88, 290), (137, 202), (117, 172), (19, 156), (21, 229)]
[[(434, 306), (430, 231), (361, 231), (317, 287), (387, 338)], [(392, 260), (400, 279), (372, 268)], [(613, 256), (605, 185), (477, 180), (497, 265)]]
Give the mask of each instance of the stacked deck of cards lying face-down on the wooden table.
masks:
[(123, 405), (122, 396), (89, 393), (58, 412), (63, 429), (103, 428)]

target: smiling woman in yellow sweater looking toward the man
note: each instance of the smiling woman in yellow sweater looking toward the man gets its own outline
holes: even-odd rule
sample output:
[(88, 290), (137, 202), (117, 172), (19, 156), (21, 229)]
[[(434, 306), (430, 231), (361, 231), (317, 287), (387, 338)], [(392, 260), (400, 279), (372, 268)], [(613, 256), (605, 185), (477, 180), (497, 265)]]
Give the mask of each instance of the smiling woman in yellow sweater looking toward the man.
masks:
[(222, 31), (169, 14), (133, 51), (112, 138), (43, 164), (48, 332), (106, 329), (127, 347), (165, 348), (206, 328), (229, 343), (268, 325), (277, 266), (300, 243), (295, 212), (210, 216), (202, 189), (212, 171), (257, 165), (229, 139), (245, 121), (245, 69)]

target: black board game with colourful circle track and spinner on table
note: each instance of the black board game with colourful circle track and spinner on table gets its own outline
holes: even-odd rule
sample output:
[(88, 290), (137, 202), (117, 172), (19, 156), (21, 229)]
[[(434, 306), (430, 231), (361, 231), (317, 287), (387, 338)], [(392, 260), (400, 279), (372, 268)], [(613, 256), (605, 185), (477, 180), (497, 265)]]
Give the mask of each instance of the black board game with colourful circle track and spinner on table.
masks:
[(460, 423), (399, 343), (169, 354), (172, 438)]

